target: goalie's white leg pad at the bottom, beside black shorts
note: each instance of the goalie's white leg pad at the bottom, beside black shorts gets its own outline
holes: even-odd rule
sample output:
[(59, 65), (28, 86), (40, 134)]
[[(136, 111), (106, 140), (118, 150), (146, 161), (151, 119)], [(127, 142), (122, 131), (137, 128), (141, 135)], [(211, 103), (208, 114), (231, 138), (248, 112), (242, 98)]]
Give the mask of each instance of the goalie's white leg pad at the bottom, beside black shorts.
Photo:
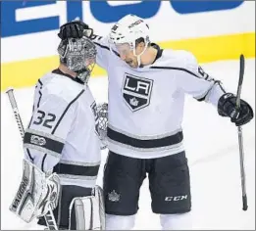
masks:
[[(73, 212), (75, 214), (73, 214)], [(73, 227), (74, 223), (76, 227)], [(99, 186), (95, 187), (93, 196), (77, 197), (73, 199), (70, 205), (69, 229), (105, 230), (103, 192)]]

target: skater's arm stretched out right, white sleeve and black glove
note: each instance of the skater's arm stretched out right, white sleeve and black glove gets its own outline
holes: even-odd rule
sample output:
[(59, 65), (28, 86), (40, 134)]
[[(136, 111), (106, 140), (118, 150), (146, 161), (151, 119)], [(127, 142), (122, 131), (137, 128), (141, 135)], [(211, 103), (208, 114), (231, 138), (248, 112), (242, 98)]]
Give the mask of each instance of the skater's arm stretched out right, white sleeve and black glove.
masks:
[(251, 120), (253, 111), (250, 105), (241, 100), (241, 109), (236, 112), (236, 97), (227, 93), (220, 80), (214, 79), (197, 63), (195, 57), (184, 52), (182, 74), (177, 78), (179, 87), (198, 101), (210, 102), (218, 108), (219, 115), (229, 116), (236, 125), (243, 125)]

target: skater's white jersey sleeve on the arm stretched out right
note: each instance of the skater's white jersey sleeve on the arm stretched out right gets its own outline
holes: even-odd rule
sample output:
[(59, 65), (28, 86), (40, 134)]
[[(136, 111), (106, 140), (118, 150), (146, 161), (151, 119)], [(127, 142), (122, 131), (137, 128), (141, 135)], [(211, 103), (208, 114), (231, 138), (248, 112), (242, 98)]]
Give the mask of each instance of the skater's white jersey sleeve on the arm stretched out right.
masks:
[(184, 52), (181, 62), (184, 68), (177, 78), (179, 88), (198, 101), (210, 102), (217, 106), (220, 97), (226, 93), (221, 81), (207, 74), (189, 52)]

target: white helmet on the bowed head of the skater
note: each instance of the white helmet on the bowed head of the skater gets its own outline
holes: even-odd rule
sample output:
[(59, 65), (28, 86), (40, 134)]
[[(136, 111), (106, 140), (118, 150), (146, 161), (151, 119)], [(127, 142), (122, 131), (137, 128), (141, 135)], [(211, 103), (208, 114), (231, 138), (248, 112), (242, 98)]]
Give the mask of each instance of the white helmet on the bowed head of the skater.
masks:
[[(139, 38), (143, 38), (145, 48), (139, 55), (136, 55), (136, 41)], [(115, 52), (118, 50), (115, 46), (128, 45), (129, 50), (133, 51), (133, 55), (137, 57), (138, 65), (140, 65), (140, 56), (145, 52), (150, 43), (149, 26), (143, 19), (135, 15), (127, 15), (111, 28), (109, 43), (111, 50)]]

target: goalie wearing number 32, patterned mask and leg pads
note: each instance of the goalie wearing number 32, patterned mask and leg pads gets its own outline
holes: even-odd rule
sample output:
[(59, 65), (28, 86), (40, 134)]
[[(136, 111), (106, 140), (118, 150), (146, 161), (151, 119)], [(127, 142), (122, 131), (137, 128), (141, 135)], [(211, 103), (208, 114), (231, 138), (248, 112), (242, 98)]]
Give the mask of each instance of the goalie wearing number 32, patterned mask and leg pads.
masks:
[[(58, 229), (104, 229), (99, 116), (87, 85), (95, 45), (63, 39), (60, 66), (41, 77), (24, 137), (24, 177), (11, 210), (26, 222), (53, 210)], [(56, 208), (57, 206), (57, 208)], [(92, 211), (92, 212), (91, 212)]]

